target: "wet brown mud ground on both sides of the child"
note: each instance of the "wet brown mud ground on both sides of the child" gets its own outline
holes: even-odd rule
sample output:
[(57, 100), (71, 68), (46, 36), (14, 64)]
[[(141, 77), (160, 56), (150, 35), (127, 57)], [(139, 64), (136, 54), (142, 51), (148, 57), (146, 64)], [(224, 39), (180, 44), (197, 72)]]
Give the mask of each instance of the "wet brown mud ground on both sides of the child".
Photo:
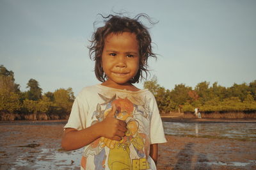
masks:
[[(0, 169), (79, 169), (82, 150), (61, 149), (64, 124), (0, 123)], [(256, 141), (166, 139), (159, 144), (157, 169), (256, 169)]]

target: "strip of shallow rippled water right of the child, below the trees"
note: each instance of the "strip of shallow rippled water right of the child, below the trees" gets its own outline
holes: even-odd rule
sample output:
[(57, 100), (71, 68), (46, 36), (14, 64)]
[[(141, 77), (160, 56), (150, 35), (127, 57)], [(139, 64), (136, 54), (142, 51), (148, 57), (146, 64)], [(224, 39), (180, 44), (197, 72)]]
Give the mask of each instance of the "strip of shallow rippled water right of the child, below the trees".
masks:
[(163, 122), (165, 134), (256, 141), (255, 123)]

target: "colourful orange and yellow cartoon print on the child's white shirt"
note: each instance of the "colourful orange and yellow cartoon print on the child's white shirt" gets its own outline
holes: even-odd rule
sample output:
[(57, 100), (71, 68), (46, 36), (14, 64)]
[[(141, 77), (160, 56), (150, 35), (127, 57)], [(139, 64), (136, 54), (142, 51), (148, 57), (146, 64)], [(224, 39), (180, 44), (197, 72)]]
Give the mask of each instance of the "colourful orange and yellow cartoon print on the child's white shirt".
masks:
[[(99, 94), (99, 93), (98, 93)], [(147, 169), (147, 155), (149, 150), (149, 139), (146, 134), (143, 133), (143, 123), (141, 120), (136, 119), (135, 115), (141, 115), (144, 119), (147, 119), (149, 114), (149, 101), (134, 102), (128, 98), (120, 98), (114, 95), (111, 98), (100, 95), (99, 97), (104, 100), (102, 104), (97, 104), (96, 111), (93, 112), (92, 120), (93, 124), (102, 121), (111, 111), (113, 104), (116, 105), (117, 111), (115, 117), (119, 120), (123, 120), (127, 123), (127, 132), (121, 141), (114, 141), (105, 137), (93, 141), (86, 150), (84, 150), (83, 158), (81, 160), (81, 166), (85, 168), (86, 158), (89, 155), (94, 155), (95, 169), (105, 169), (105, 162), (108, 154), (108, 167), (109, 169), (138, 169), (138, 162), (143, 159), (143, 167), (139, 169)], [(138, 99), (136, 99), (138, 101)], [(133, 100), (134, 101), (134, 100)], [(141, 101), (141, 100), (140, 100)], [(102, 109), (102, 107), (105, 107)], [(108, 148), (108, 152), (106, 149)], [(138, 159), (131, 160), (131, 148), (134, 148)], [(139, 161), (140, 159), (140, 161)]]

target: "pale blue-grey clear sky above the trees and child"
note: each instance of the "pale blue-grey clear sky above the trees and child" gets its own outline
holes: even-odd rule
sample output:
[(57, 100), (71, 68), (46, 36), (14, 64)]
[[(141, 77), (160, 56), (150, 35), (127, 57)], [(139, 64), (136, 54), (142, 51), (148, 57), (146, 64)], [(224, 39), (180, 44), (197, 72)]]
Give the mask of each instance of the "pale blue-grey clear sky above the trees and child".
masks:
[(21, 91), (35, 79), (44, 93), (71, 87), (77, 95), (100, 83), (87, 49), (103, 23), (98, 14), (147, 13), (158, 21), (142, 20), (159, 54), (149, 66), (160, 86), (250, 83), (256, 80), (255, 9), (254, 0), (0, 0), (0, 65), (15, 73)]

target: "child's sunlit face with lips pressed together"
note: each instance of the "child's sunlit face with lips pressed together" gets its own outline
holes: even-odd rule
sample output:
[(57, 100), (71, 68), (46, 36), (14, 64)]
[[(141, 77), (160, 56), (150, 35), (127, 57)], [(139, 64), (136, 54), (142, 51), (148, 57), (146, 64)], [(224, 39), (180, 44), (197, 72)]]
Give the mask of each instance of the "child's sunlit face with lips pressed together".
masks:
[(139, 69), (139, 47), (134, 33), (111, 33), (105, 39), (102, 68), (113, 85), (126, 84)]

